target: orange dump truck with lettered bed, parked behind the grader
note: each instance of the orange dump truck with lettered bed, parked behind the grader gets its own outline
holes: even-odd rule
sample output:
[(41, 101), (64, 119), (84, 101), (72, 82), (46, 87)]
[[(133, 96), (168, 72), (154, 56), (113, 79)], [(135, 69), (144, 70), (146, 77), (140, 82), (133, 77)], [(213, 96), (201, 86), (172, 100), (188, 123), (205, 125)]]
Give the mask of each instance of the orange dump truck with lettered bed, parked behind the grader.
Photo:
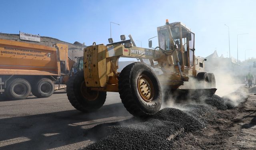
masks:
[(73, 64), (65, 44), (49, 47), (0, 39), (0, 97), (21, 100), (30, 92), (49, 97), (54, 81), (67, 75)]

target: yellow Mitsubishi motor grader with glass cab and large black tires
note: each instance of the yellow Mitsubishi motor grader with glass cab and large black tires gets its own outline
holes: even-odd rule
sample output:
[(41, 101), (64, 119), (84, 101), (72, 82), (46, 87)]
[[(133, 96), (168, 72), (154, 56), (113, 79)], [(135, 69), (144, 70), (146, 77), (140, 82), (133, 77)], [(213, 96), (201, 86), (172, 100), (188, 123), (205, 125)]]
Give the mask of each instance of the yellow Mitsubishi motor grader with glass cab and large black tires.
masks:
[[(130, 35), (130, 40), (121, 35), (120, 42), (110, 38), (110, 44), (94, 42), (84, 48), (83, 72), (71, 77), (67, 84), (72, 106), (83, 112), (97, 110), (104, 104), (106, 92), (119, 92), (128, 112), (146, 117), (158, 112), (162, 99), (168, 99), (168, 95), (176, 98), (193, 94), (212, 96), (216, 91), (214, 74), (196, 70), (194, 33), (181, 22), (169, 23), (168, 20), (157, 32), (159, 46), (156, 48), (151, 48), (151, 40), (150, 48), (136, 47)], [(137, 58), (140, 62), (117, 72), (120, 57)], [(146, 59), (150, 64), (143, 62)], [(156, 75), (152, 68), (160, 69), (161, 74)], [(193, 84), (201, 87), (182, 88), (189, 78), (195, 78)]]

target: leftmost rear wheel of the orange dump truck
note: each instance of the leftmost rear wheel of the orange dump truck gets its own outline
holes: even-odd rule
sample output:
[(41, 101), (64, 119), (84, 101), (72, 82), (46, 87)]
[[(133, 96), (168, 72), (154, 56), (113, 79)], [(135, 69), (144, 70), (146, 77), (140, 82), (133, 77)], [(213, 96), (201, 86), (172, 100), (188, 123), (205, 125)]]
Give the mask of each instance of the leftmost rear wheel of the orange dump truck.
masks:
[(7, 84), (5, 92), (10, 100), (23, 100), (29, 96), (31, 86), (27, 80), (16, 78)]

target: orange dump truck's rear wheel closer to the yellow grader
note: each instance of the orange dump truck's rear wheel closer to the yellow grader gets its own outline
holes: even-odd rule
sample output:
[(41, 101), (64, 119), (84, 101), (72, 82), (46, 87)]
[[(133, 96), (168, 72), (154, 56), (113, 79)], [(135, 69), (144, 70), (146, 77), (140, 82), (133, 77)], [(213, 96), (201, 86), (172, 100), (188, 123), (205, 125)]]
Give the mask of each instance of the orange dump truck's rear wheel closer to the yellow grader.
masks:
[(36, 84), (32, 84), (32, 94), (38, 98), (46, 98), (54, 93), (54, 84), (48, 78), (42, 78)]

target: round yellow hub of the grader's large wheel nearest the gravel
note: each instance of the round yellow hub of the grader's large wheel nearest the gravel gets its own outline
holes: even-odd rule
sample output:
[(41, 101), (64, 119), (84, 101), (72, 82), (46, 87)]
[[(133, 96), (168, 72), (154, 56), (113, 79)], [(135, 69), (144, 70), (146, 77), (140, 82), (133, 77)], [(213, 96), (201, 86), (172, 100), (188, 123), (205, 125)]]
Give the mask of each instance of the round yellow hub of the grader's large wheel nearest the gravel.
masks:
[(151, 102), (154, 97), (154, 87), (151, 80), (147, 76), (141, 75), (138, 78), (137, 86), (142, 99), (145, 102)]

